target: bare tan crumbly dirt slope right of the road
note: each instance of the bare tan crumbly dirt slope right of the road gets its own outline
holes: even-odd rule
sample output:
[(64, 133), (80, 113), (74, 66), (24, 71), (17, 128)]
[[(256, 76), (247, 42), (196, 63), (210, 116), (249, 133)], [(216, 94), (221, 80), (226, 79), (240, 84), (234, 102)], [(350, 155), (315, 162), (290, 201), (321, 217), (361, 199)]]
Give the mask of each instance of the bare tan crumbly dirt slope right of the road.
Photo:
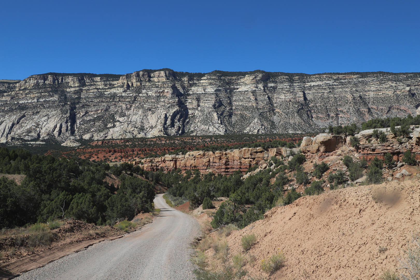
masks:
[[(374, 280), (386, 270), (404, 273), (399, 259), (406, 257), (407, 241), (420, 230), (419, 199), (418, 180), (304, 196), (231, 233), (229, 254), (254, 256), (256, 262), (245, 266), (250, 275), (278, 280)], [(241, 237), (252, 233), (257, 242), (246, 253)], [(206, 253), (210, 258), (212, 250)], [(279, 251), (286, 266), (272, 275), (262, 272), (260, 261)]]

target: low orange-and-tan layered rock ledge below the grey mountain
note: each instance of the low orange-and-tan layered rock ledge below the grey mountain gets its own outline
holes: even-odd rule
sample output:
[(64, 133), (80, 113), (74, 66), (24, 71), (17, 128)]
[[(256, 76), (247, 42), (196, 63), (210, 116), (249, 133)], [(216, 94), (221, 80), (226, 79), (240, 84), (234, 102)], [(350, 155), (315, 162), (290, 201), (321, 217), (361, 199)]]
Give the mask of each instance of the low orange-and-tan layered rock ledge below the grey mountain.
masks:
[[(398, 128), (398, 127), (397, 127)], [(373, 139), (373, 129), (360, 131), (355, 136), (360, 140), (360, 146), (355, 149), (351, 146), (348, 136), (320, 133), (315, 137), (304, 137), (299, 148), (289, 149), (286, 147), (271, 148), (264, 150), (262, 148), (243, 148), (229, 151), (203, 152), (192, 151), (185, 155), (165, 155), (164, 157), (147, 158), (132, 162), (134, 165), (147, 171), (157, 171), (163, 168), (164, 171), (171, 171), (173, 168), (181, 170), (199, 169), (200, 171), (209, 170), (214, 173), (231, 174), (236, 170), (247, 171), (249, 167), (259, 165), (259, 169), (274, 169), (270, 161), (272, 156), (280, 158), (285, 157), (284, 161), (291, 159), (290, 152), (298, 153), (299, 150), (306, 154), (308, 159), (313, 157), (325, 158), (328, 155), (345, 156), (353, 154), (355, 157), (365, 160), (373, 160), (375, 157), (385, 159), (386, 153), (391, 153), (396, 162), (402, 161), (404, 152), (409, 149), (415, 153), (416, 159), (420, 160), (420, 128), (411, 126), (413, 131), (406, 143), (398, 143), (396, 137), (390, 132), (390, 128), (381, 128), (378, 131), (386, 133), (388, 140), (385, 143), (378, 143)], [(367, 143), (367, 139), (371, 139)], [(287, 158), (289, 157), (289, 158)], [(271, 162), (271, 163), (270, 163)], [(272, 166), (270, 166), (272, 165)], [(244, 178), (249, 176), (245, 175)]]

